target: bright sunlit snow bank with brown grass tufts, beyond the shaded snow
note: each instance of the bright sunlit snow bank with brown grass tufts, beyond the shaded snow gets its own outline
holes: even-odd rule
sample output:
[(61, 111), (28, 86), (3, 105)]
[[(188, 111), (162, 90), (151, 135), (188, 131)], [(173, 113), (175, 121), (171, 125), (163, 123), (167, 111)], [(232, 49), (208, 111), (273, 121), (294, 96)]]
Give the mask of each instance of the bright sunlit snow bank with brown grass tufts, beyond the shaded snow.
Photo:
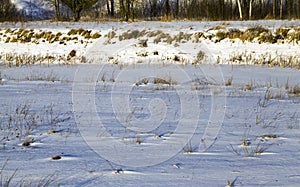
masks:
[[(0, 54), (6, 61), (4, 56), (9, 54), (13, 57), (11, 58), (13, 63), (15, 63), (16, 56), (45, 57), (43, 60), (47, 62), (49, 58), (46, 57), (50, 56), (51, 63), (64, 63), (64, 57), (67, 57), (72, 50), (77, 52), (78, 59), (75, 61), (78, 62), (82, 60), (82, 56), (90, 58), (96, 46), (97, 52), (102, 48), (101, 52), (106, 54), (122, 51), (123, 54), (118, 53), (118, 57), (132, 57), (142, 61), (145, 60), (145, 56), (157, 57), (157, 53), (154, 52), (158, 52), (159, 58), (174, 59), (177, 56), (186, 59), (183, 57), (186, 54), (193, 59), (200, 60), (201, 63), (210, 63), (209, 61), (213, 60), (219, 64), (261, 64), (281, 67), (292, 64), (292, 67), (298, 69), (300, 66), (298, 21), (138, 22), (131, 24), (29, 22), (3, 23), (0, 26), (2, 28), (0, 30)], [(257, 27), (268, 29), (270, 33), (260, 33), (253, 41), (247, 39), (242, 41), (236, 38), (223, 39), (219, 36), (221, 32), (237, 29), (244, 32)], [(275, 43), (260, 42), (266, 34), (276, 38), (275, 34), (279, 28), (289, 29), (284, 40), (276, 39)], [(72, 29), (83, 29), (91, 34), (98, 33), (101, 37), (99, 39), (98, 37), (87, 38), (81, 33), (70, 35)], [(47, 33), (50, 33), (50, 36)], [(139, 44), (141, 40), (147, 40), (145, 42), (147, 47), (141, 47)], [(127, 50), (123, 50), (125, 48)], [(166, 52), (162, 50), (166, 48), (169, 50)], [(207, 51), (211, 53), (213, 59), (202, 61), (207, 56), (205, 55)], [(199, 52), (204, 52), (202, 59), (197, 59)], [(167, 57), (162, 57), (163, 54)], [(96, 56), (105, 55), (96, 54)], [(183, 59), (177, 61), (187, 63)], [(111, 61), (116, 60), (118, 58), (111, 59)]]

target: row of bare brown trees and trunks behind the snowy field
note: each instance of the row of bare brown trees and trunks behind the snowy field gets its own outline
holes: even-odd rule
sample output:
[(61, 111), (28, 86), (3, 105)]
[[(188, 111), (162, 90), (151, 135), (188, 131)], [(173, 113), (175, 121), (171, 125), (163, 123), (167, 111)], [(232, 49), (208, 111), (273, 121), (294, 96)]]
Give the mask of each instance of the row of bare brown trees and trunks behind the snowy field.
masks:
[[(46, 0), (56, 20), (256, 20), (299, 19), (300, 0)], [(70, 12), (70, 14), (69, 14)], [(71, 16), (70, 16), (71, 15)], [(20, 19), (10, 0), (0, 0), (0, 21)]]

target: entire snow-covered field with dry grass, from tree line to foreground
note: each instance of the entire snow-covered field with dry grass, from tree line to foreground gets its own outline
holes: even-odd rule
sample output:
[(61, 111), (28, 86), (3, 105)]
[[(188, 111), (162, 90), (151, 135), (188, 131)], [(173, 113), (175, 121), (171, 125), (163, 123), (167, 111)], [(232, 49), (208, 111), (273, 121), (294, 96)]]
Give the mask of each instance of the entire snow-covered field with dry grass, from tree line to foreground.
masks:
[(2, 23), (0, 184), (298, 186), (299, 26)]

